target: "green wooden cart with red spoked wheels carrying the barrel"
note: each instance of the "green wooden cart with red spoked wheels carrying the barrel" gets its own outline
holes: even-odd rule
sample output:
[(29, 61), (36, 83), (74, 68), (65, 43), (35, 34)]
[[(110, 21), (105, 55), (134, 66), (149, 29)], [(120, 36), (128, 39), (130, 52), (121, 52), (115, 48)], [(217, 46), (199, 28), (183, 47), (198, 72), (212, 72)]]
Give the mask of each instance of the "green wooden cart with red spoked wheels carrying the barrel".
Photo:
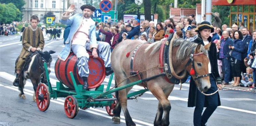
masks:
[[(67, 117), (74, 118), (79, 108), (88, 109), (90, 107), (98, 108), (98, 107), (106, 107), (106, 111), (109, 116), (114, 116), (112, 113), (115, 108), (117, 99), (115, 95), (112, 94), (116, 91), (126, 89), (130, 86), (134, 86), (136, 84), (142, 83), (144, 81), (148, 81), (155, 77), (163, 76), (164, 73), (159, 74), (154, 77), (149, 77), (143, 80), (138, 80), (133, 83), (129, 83), (125, 86), (121, 86), (118, 88), (110, 89), (111, 82), (114, 76), (114, 73), (111, 74), (106, 90), (104, 91), (104, 85), (100, 85), (94, 91), (86, 91), (82, 88), (82, 85), (77, 85), (75, 82), (75, 78), (72, 72), (69, 72), (74, 88), (70, 89), (64, 86), (61, 82), (56, 83), (56, 87), (52, 87), (49, 79), (49, 73), (47, 71), (46, 63), (44, 63), (45, 75), (47, 79), (47, 85), (44, 83), (40, 83), (36, 89), (36, 105), (40, 111), (46, 111), (50, 104), (50, 99), (57, 98), (65, 98), (64, 101), (64, 111)], [(136, 95), (141, 95), (148, 91), (148, 89), (142, 89), (139, 91), (132, 92), (127, 95), (128, 99), (133, 99), (132, 97)]]

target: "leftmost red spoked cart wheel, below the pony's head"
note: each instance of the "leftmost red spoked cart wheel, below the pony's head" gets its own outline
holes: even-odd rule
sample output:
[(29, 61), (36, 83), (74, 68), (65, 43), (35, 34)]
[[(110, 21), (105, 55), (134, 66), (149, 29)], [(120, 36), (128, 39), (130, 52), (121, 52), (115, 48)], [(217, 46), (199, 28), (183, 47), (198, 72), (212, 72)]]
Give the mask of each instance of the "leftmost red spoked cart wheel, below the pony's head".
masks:
[(40, 111), (46, 111), (50, 105), (48, 86), (40, 83), (36, 88), (36, 105)]

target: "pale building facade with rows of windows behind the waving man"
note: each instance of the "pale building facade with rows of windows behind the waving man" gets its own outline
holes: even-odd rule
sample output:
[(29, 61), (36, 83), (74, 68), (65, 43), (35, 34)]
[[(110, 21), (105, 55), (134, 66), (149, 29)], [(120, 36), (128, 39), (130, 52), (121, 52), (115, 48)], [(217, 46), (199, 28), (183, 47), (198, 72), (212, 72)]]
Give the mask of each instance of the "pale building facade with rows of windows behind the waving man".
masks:
[[(25, 0), (23, 21), (30, 21), (32, 15), (37, 15), (40, 22), (44, 22), (44, 15), (51, 12), (59, 22), (61, 14), (68, 9), (68, 0)], [(64, 6), (63, 6), (64, 2)]]

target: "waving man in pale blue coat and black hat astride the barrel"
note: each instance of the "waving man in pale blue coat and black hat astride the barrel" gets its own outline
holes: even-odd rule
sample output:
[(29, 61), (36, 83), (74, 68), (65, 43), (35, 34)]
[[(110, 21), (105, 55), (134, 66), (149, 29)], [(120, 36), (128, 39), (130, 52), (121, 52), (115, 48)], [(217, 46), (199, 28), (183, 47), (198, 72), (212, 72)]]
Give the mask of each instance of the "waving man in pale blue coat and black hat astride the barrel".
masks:
[(86, 49), (92, 50), (93, 58), (97, 58), (97, 50), (99, 56), (105, 63), (106, 75), (110, 75), (113, 70), (110, 63), (110, 46), (108, 43), (97, 42), (95, 32), (95, 21), (91, 19), (91, 15), (95, 10), (95, 7), (86, 4), (81, 6), (82, 14), (74, 14), (70, 16), (70, 13), (75, 11), (75, 5), (71, 4), (69, 9), (62, 14), (61, 23), (70, 25), (70, 32), (67, 40), (65, 41), (65, 47), (62, 49), (58, 58), (65, 61), (70, 51), (76, 55), (78, 59), (78, 74), (83, 79), (83, 89), (88, 89), (88, 76), (89, 76), (89, 54)]

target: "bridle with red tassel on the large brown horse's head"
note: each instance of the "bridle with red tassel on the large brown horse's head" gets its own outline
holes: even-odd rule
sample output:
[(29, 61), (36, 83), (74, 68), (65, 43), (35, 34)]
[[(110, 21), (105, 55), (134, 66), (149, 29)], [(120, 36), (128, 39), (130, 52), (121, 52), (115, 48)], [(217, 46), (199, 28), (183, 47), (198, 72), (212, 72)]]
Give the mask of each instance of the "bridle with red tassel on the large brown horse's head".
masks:
[(200, 78), (203, 78), (203, 77), (207, 77), (207, 76), (210, 76), (209, 73), (205, 74), (205, 75), (201, 75), (201, 76), (198, 76), (197, 72), (196, 72), (196, 69), (195, 69), (195, 65), (194, 65), (194, 57), (195, 56), (198, 56), (198, 55), (201, 55), (201, 54), (204, 54), (203, 52), (200, 52), (200, 53), (197, 53), (197, 54), (190, 54), (190, 57), (189, 57), (189, 60), (187, 61), (187, 64), (186, 66), (188, 66), (191, 62), (192, 62), (192, 68), (191, 68), (191, 71), (194, 70), (194, 73), (195, 73), (195, 78), (194, 80), (198, 80), (198, 86), (200, 86), (202, 83), (200, 81)]

